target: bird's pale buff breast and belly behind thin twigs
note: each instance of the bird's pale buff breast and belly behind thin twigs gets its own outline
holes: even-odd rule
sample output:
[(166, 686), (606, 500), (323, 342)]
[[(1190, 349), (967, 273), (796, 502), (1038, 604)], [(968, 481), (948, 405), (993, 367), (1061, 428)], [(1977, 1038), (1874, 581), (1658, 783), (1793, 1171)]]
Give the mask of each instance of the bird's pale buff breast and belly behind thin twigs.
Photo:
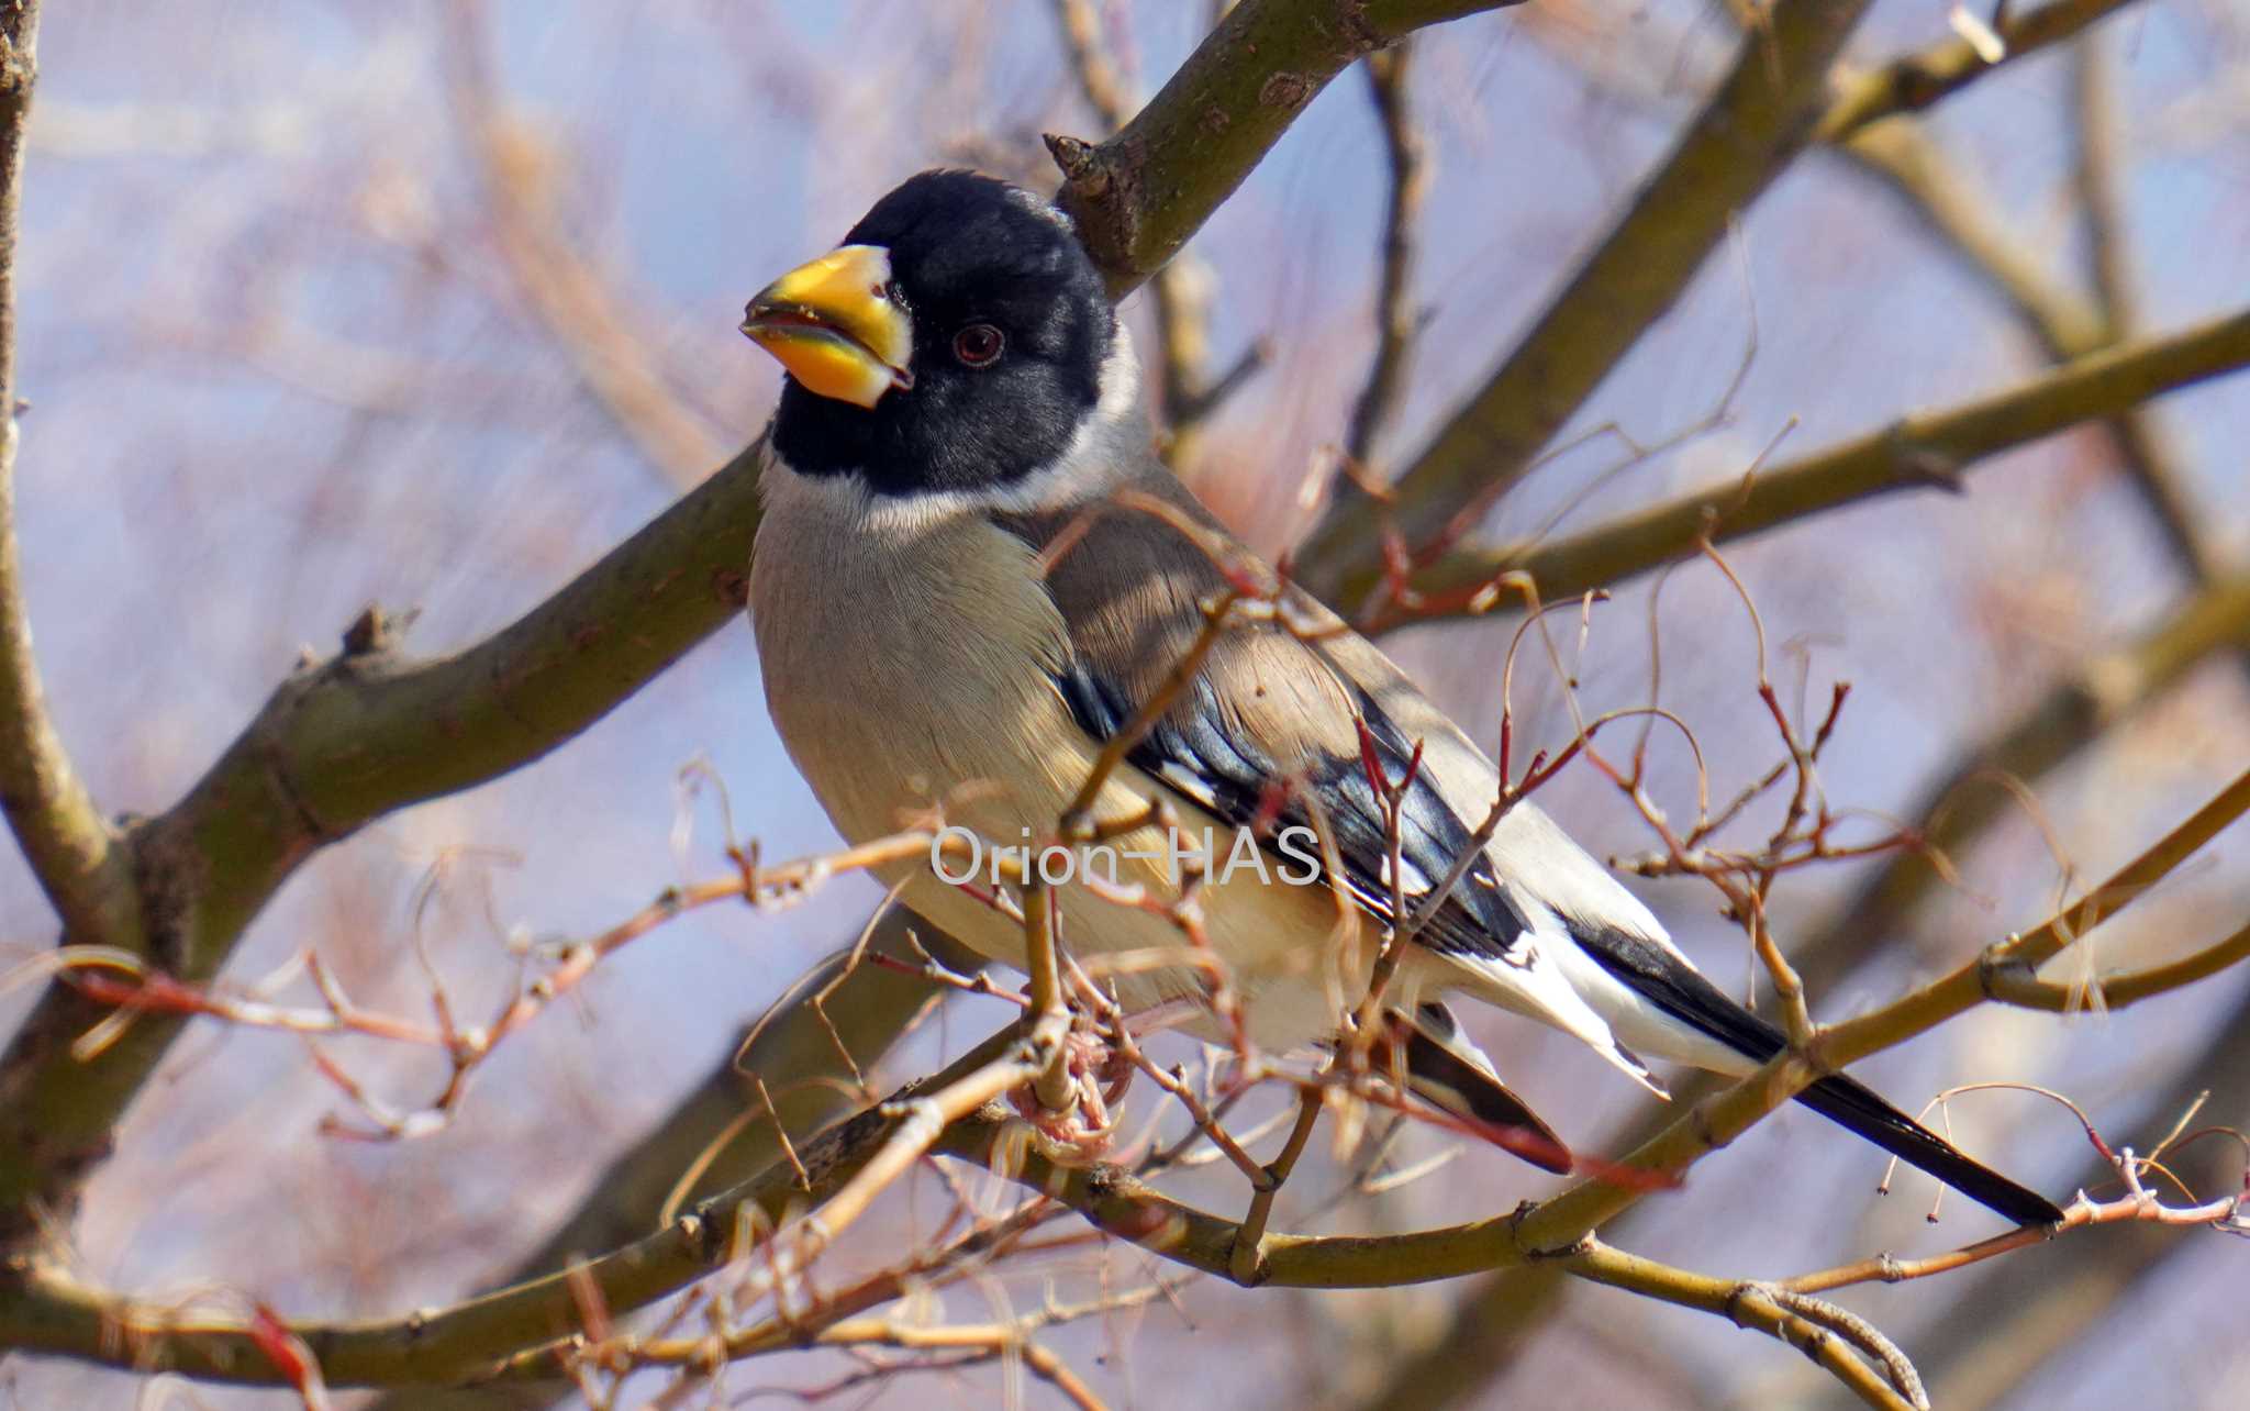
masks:
[[(1066, 630), (1033, 551), (981, 515), (868, 518), (853, 491), (788, 470), (767, 475), (767, 511), (752, 565), (752, 626), (767, 707), (790, 758), (850, 842), (896, 833), (938, 808), (988, 844), (1053, 837), (1087, 779), (1096, 745), (1053, 686)], [(1120, 767), (1096, 815), (1130, 817), (1168, 792)], [(1177, 801), (1188, 833), (1208, 828), (1222, 855), (1231, 833)], [(1154, 830), (1114, 839), (1102, 873), (1174, 896), (1172, 848)], [(1022, 965), (1022, 927), (925, 862), (884, 869), (907, 905), (965, 945)], [(1118, 907), (1084, 887), (1058, 889), (1064, 934), (1082, 954), (1177, 950), (1163, 916)], [(1287, 1049), (1334, 1028), (1366, 983), (1370, 945), (1325, 887), (1235, 869), (1204, 898), (1208, 938), (1244, 992), (1260, 1044)], [(1125, 963), (1130, 1006), (1199, 997), (1195, 970)], [(1210, 1024), (1199, 1024), (1213, 1033)]]

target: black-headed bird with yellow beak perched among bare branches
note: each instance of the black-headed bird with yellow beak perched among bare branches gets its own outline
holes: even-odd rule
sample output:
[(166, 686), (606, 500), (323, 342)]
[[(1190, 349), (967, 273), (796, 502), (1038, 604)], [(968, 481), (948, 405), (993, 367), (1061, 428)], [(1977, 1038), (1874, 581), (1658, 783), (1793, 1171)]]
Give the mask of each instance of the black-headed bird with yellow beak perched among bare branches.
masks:
[[(785, 371), (749, 567), (765, 702), (848, 842), (934, 812), (994, 846), (1051, 839), (1125, 734), (1091, 806), (1138, 824), (1125, 857), (1161, 855), (1163, 828), (1172, 842), (1251, 830), (1271, 853), (1274, 830), (1296, 826), (1332, 846), (1346, 907), (1336, 887), (1262, 866), (1204, 882), (1204, 934), (1249, 1040), (1276, 1053), (1336, 1042), (1370, 983), (1368, 934), (1420, 920), (1384, 990), (1408, 1085), (1534, 1134), (1512, 1150), (1550, 1170), (1573, 1157), (1449, 1001), (1562, 1028), (1656, 1094), (1652, 1060), (1742, 1076), (1784, 1051), (1786, 1035), (1706, 979), (1537, 803), (1508, 808), (1476, 846), (1494, 763), (1154, 455), (1130, 331), (1055, 203), (922, 171), (763, 288), (742, 333)], [(1276, 583), (1280, 612), (1222, 623), (1192, 680), (1136, 720), (1166, 702), (1166, 677), (1244, 574)], [(1395, 803), (1377, 765), (1404, 781)], [(932, 925), (1026, 965), (1024, 925), (990, 887), (940, 875), (936, 855), (875, 871)], [(1118, 880), (1179, 884), (1154, 860)], [(1053, 896), (1073, 956), (1179, 954), (1161, 909), (1091, 887)], [(1127, 1013), (1186, 1006), (1190, 1033), (1224, 1037), (1206, 970), (1120, 963), (1112, 983)], [(2016, 1224), (2061, 1220), (1856, 1078), (1820, 1076), (1798, 1100)]]

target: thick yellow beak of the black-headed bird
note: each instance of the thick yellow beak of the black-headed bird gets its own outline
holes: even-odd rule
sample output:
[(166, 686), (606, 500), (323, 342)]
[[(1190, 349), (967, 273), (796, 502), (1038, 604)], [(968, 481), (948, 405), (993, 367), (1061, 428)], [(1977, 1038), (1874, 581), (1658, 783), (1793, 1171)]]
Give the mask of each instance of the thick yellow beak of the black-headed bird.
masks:
[(889, 288), (889, 250), (839, 245), (758, 290), (742, 333), (806, 392), (873, 407), (891, 387), (914, 387), (914, 320)]

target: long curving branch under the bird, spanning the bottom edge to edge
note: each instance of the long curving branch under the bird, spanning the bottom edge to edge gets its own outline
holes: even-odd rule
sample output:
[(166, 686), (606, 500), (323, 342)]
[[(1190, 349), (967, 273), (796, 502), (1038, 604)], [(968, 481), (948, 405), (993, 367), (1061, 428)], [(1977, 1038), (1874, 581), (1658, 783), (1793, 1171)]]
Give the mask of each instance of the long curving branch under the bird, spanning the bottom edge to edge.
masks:
[[(1681, 1172), (1786, 1103), (1820, 1071), (1834, 1071), (1976, 1008), (1987, 999), (1991, 965), (2038, 965), (2104, 918), (2144, 896), (2216, 833), (2250, 812), (2250, 774), (2221, 790), (2196, 815), (2151, 844), (2138, 860), (2041, 927), (1991, 947), (1953, 974), (1890, 1006), (1827, 1028), (1804, 1055), (1784, 1051), (1712, 1103), (1681, 1114), (1634, 1150), (1622, 1170)], [(763, 1258), (801, 1269), (855, 1220), (873, 1195), (922, 1152), (976, 1161), (1058, 1199), (1098, 1229), (1161, 1258), (1231, 1276), (1240, 1226), (1186, 1206), (1107, 1163), (1058, 1157), (1024, 1121), (994, 1103), (1053, 1058), (1060, 1024), (1028, 1037), (1008, 1028), (943, 1073), (911, 1085), (882, 1107), (830, 1127), (801, 1161), (767, 1170), (734, 1193), (702, 1202), (668, 1229), (598, 1260), (436, 1314), (353, 1325), (295, 1325), (335, 1384), (421, 1384), (472, 1377), (513, 1348), (569, 1337), (583, 1316), (578, 1287), (598, 1289), (605, 1307), (637, 1307), (684, 1287), (740, 1253), (736, 1233), (752, 1208), (776, 1222)], [(1512, 1215), (1469, 1224), (1361, 1238), (1280, 1235), (1260, 1240), (1256, 1283), (1294, 1287), (1375, 1287), (1424, 1283), (1526, 1260), (1573, 1258), (1586, 1235), (1645, 1193), (1645, 1181), (1580, 1181), (1562, 1195)], [(781, 1224), (785, 1206), (806, 1197), (814, 1217)], [(256, 1332), (225, 1319), (189, 1321), (148, 1305), (122, 1303), (63, 1280), (54, 1271), (0, 1285), (0, 1339), (92, 1361), (137, 1368), (182, 1368), (223, 1379), (270, 1382)], [(520, 1375), (551, 1375), (538, 1359), (511, 1361)]]

